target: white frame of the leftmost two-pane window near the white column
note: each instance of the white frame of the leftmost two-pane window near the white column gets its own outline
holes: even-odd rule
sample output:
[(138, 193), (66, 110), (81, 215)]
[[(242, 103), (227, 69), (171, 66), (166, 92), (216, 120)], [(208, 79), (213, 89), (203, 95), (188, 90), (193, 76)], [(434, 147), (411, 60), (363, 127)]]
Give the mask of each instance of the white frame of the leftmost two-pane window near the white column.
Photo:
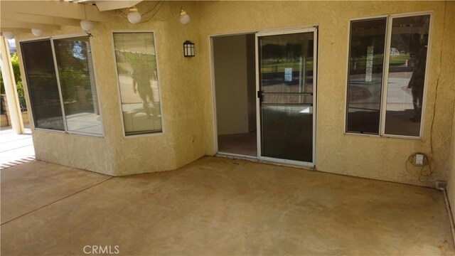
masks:
[[(75, 131), (68, 131), (67, 127), (67, 121), (66, 121), (66, 114), (65, 114), (65, 107), (63, 105), (63, 96), (62, 96), (62, 89), (60, 85), (60, 74), (58, 73), (58, 65), (57, 65), (57, 58), (55, 56), (55, 48), (54, 48), (54, 40), (58, 39), (64, 39), (64, 38), (75, 38), (75, 37), (82, 37), (82, 36), (87, 36), (87, 33), (73, 33), (73, 34), (68, 34), (68, 35), (62, 35), (62, 36), (44, 36), (44, 37), (39, 37), (39, 38), (31, 38), (31, 39), (25, 39), (18, 41), (18, 44), (20, 43), (26, 43), (26, 42), (35, 42), (35, 41), (43, 41), (48, 39), (50, 41), (50, 48), (52, 49), (52, 58), (53, 58), (53, 63), (54, 63), (54, 68), (55, 68), (55, 78), (57, 79), (57, 87), (58, 87), (58, 97), (60, 97), (60, 107), (62, 109), (62, 117), (63, 117), (63, 127), (65, 128), (64, 131), (60, 130), (55, 130), (55, 129), (45, 129), (45, 128), (39, 128), (35, 127), (35, 117), (33, 115), (33, 109), (31, 110), (31, 116), (33, 119), (33, 129), (36, 130), (41, 130), (41, 131), (46, 131), (46, 132), (58, 132), (58, 133), (65, 133), (65, 134), (75, 134), (75, 135), (83, 135), (83, 136), (88, 136), (88, 137), (105, 137), (105, 125), (102, 119), (102, 110), (101, 110), (101, 104), (100, 104), (100, 93), (98, 89), (98, 80), (97, 80), (97, 75), (96, 75), (96, 65), (95, 65), (95, 58), (92, 58), (92, 65), (93, 65), (93, 80), (95, 80), (95, 90), (97, 94), (97, 101), (98, 101), (98, 107), (100, 110), (100, 122), (101, 122), (101, 134), (92, 134), (89, 132), (75, 132)], [(92, 56), (95, 55), (93, 53), (93, 48), (92, 48), (92, 37), (88, 36), (89, 38), (89, 43), (90, 43), (90, 50), (92, 50)], [(19, 47), (21, 48), (21, 47)], [(22, 49), (21, 49), (21, 56), (22, 56)], [(26, 75), (26, 74), (24, 74)], [(27, 82), (27, 81), (26, 81)], [(28, 90), (28, 84), (27, 90)]]

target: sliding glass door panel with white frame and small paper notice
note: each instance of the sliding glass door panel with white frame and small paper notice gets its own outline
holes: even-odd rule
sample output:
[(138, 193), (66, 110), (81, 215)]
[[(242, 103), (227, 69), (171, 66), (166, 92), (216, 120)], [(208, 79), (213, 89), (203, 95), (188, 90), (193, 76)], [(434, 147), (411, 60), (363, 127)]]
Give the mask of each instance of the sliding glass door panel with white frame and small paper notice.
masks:
[(316, 28), (256, 38), (259, 159), (314, 166)]

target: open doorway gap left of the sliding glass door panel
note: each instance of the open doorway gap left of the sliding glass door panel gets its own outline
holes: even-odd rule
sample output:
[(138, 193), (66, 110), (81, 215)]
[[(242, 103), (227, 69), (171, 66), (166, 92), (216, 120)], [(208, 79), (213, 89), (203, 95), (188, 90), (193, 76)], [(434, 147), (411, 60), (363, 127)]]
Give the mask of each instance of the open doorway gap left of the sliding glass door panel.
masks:
[(255, 33), (212, 37), (217, 152), (257, 158)]

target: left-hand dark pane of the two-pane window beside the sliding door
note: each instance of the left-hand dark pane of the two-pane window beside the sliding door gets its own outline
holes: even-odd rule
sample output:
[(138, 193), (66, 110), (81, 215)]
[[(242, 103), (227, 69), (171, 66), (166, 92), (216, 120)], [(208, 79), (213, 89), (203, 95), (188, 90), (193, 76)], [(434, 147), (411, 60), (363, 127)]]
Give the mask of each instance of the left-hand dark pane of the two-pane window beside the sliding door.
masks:
[(347, 132), (379, 134), (386, 18), (350, 25)]

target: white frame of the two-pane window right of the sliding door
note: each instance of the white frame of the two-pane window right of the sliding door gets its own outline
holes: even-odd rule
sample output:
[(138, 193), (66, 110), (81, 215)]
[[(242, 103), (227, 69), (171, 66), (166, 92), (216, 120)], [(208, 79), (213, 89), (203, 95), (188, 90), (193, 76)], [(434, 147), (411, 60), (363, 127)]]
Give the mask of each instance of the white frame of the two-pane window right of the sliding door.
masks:
[[(410, 16), (424, 16), (429, 15), (429, 31), (428, 31), (428, 50), (427, 50), (427, 62), (425, 64), (425, 81), (424, 81), (424, 95), (422, 103), (422, 118), (419, 127), (419, 136), (408, 136), (408, 135), (395, 135), (385, 133), (385, 114), (387, 111), (387, 88), (389, 80), (389, 60), (390, 60), (390, 43), (392, 38), (392, 20), (393, 18), (402, 18)], [(382, 84), (381, 84), (381, 100), (380, 100), (380, 120), (379, 120), (379, 133), (378, 134), (363, 134), (360, 132), (348, 132), (346, 125), (348, 122), (348, 91), (349, 91), (349, 66), (350, 66), (350, 40), (351, 40), (351, 22), (352, 21), (368, 21), (375, 18), (386, 18), (386, 31), (385, 31), (385, 46), (384, 46), (384, 60), (382, 63)], [(345, 90), (345, 112), (344, 112), (344, 133), (348, 135), (360, 135), (367, 137), (385, 137), (385, 138), (397, 138), (397, 139), (414, 139), (422, 140), (422, 134), (424, 129), (424, 113), (427, 105), (427, 87), (428, 87), (428, 75), (429, 75), (429, 56), (432, 49), (432, 27), (433, 27), (433, 11), (419, 11), (405, 14), (388, 14), (380, 16), (368, 16), (363, 18), (351, 18), (348, 21), (348, 50), (347, 50), (347, 65), (346, 65), (346, 90)]]

